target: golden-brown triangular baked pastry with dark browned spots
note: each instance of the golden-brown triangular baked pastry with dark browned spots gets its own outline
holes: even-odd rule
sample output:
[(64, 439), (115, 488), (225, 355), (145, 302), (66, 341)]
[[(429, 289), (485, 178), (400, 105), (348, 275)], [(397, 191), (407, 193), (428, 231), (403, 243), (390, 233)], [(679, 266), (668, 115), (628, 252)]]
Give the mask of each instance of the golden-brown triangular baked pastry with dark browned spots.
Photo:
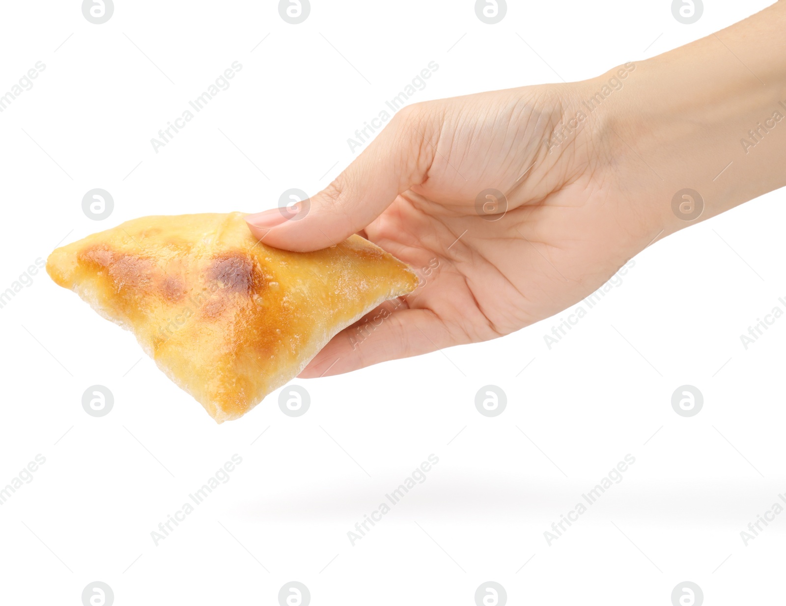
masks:
[(417, 277), (362, 237), (316, 252), (258, 242), (244, 213), (142, 217), (57, 248), (53, 281), (134, 332), (222, 423), (296, 376)]

